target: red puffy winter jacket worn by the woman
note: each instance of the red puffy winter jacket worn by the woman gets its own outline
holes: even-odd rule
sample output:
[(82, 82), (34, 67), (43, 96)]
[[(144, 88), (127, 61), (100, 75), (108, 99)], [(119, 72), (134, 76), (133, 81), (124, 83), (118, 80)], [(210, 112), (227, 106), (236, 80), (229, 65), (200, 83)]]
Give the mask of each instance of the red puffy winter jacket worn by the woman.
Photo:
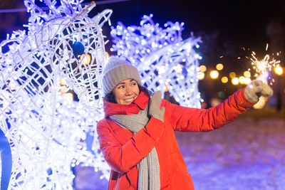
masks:
[(108, 189), (137, 189), (137, 164), (153, 147), (160, 162), (160, 188), (194, 189), (174, 131), (207, 132), (219, 129), (254, 105), (244, 97), (244, 89), (207, 110), (182, 107), (162, 100), (164, 122), (152, 117), (135, 135), (108, 118), (108, 115), (115, 114), (137, 114), (140, 109), (145, 109), (148, 100), (145, 93), (140, 93), (130, 105), (104, 102), (106, 117), (98, 122), (97, 132), (100, 149), (111, 167)]

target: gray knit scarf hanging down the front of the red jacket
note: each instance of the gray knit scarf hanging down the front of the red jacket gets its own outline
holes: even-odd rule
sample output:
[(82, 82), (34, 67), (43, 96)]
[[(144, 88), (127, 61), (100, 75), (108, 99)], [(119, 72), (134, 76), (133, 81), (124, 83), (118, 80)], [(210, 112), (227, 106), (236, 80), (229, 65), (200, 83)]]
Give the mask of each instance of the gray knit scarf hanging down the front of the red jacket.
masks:
[[(147, 107), (135, 115), (110, 115), (111, 120), (118, 123), (135, 135), (145, 125), (147, 117)], [(155, 147), (151, 152), (138, 163), (138, 190), (159, 190), (160, 189), (160, 164), (158, 162)]]

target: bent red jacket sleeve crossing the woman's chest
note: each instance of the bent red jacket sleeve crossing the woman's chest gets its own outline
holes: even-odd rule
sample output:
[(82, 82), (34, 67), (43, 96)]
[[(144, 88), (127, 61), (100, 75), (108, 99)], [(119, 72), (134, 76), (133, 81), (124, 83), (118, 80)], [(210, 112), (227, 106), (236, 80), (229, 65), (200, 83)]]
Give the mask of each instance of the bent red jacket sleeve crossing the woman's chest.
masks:
[(127, 172), (135, 167), (155, 147), (160, 139), (165, 125), (152, 117), (147, 125), (132, 138), (122, 144), (113, 134), (110, 120), (101, 120), (97, 125), (100, 149), (111, 169), (117, 172)]

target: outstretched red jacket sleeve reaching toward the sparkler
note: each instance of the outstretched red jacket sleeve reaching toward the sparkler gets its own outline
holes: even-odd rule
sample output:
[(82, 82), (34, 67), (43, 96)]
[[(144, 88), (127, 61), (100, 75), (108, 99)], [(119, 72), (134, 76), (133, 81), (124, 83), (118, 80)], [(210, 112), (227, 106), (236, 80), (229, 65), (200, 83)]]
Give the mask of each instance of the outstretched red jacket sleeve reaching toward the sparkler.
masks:
[(256, 102), (244, 97), (244, 88), (229, 96), (221, 104), (209, 109), (182, 107), (165, 102), (165, 114), (170, 115), (173, 130), (207, 132), (234, 121)]

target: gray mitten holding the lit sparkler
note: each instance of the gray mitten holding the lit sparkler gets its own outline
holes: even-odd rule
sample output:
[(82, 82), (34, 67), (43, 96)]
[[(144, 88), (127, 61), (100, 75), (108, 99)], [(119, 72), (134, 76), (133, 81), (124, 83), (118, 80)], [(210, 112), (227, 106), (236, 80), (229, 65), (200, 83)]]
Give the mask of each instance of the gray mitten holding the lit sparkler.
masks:
[(244, 96), (250, 102), (257, 102), (259, 97), (271, 97), (271, 95), (273, 95), (273, 90), (261, 80), (252, 80), (244, 90)]

